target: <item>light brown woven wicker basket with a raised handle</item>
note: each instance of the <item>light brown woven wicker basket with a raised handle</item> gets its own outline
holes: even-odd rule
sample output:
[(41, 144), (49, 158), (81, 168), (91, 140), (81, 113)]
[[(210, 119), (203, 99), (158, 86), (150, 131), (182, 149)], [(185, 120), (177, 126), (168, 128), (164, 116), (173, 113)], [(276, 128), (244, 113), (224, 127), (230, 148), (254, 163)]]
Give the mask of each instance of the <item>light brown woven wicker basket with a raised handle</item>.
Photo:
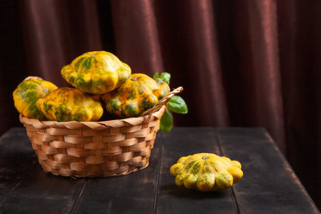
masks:
[(55, 122), (20, 115), (45, 172), (70, 177), (112, 177), (148, 166), (168, 93), (138, 118), (103, 122)]

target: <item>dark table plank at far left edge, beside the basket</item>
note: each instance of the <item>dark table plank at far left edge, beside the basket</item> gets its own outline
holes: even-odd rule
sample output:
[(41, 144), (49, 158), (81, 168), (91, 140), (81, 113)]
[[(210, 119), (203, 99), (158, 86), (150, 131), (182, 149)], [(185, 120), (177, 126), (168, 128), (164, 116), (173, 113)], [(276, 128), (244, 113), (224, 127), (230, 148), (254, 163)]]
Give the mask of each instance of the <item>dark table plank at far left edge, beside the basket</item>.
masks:
[(35, 160), (25, 128), (12, 128), (0, 139), (0, 204)]

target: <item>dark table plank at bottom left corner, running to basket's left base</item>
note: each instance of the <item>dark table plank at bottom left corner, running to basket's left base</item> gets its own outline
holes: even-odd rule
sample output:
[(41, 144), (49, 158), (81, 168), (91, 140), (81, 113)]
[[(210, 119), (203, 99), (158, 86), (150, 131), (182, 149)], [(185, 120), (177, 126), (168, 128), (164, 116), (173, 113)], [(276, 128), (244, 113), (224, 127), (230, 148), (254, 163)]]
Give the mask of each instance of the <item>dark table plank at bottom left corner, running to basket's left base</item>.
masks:
[[(10, 132), (11, 133), (11, 132)], [(14, 154), (16, 159), (24, 157), (31, 163), (25, 173), (7, 194), (0, 205), (0, 213), (69, 213), (81, 192), (85, 179), (71, 179), (57, 177), (43, 171), (35, 156), (24, 150), (24, 146), (18, 145), (26, 141), (26, 134), (19, 132), (12, 137), (10, 142), (16, 144), (15, 148), (7, 150), (6, 154)], [(30, 144), (30, 142), (29, 142)], [(31, 148), (31, 144), (29, 145)], [(30, 157), (33, 160), (30, 160)], [(19, 165), (12, 165), (11, 170), (16, 171)], [(8, 181), (4, 181), (6, 185)]]

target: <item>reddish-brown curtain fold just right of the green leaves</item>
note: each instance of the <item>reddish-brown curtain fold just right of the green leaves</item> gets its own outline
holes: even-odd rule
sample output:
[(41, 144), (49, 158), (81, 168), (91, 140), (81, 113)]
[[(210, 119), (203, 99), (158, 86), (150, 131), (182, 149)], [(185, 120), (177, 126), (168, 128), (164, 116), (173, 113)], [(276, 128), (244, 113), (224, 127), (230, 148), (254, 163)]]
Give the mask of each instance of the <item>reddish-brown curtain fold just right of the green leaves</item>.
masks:
[(191, 68), (187, 75), (193, 77), (191, 85), (197, 93), (194, 92), (194, 97), (189, 99), (189, 102), (198, 103), (197, 108), (190, 112), (196, 113), (195, 118), (202, 118), (203, 126), (228, 126), (229, 118), (217, 51), (212, 1), (190, 0), (185, 1), (185, 4), (188, 6), (187, 10), (184, 10), (188, 13), (187, 33), (192, 34), (185, 44), (189, 47), (190, 53), (190, 59), (185, 63)]

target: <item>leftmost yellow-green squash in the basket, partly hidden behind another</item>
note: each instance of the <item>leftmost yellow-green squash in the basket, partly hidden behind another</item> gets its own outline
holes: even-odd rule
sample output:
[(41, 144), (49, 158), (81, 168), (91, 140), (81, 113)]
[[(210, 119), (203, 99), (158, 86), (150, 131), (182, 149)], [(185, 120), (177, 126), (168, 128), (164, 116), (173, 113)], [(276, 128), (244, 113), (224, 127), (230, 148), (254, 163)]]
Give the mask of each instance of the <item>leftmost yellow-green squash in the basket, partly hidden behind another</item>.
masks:
[(45, 115), (36, 108), (36, 101), (56, 88), (40, 77), (29, 76), (13, 91), (14, 106), (26, 118), (43, 120)]

